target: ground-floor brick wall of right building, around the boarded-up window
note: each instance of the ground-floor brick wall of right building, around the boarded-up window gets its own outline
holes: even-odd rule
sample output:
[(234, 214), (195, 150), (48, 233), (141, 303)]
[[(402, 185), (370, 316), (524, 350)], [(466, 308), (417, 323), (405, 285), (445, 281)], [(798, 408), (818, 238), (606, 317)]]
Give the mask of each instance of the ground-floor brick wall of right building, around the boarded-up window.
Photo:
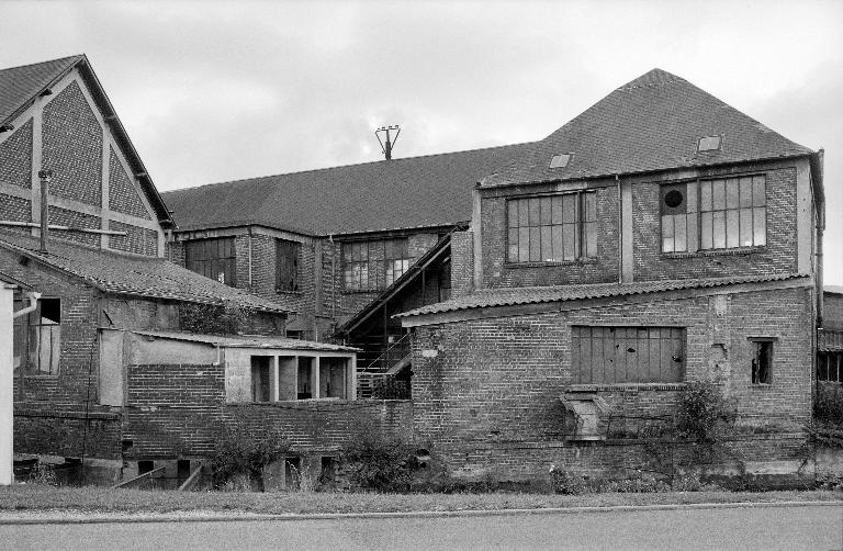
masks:
[[(572, 325), (686, 328), (685, 379), (720, 375), (752, 423), (793, 429), (810, 418), (810, 291), (791, 289), (417, 327), (414, 426), (438, 449), (468, 453), (498, 442), (557, 441), (559, 397), (572, 383)], [(549, 308), (551, 310), (551, 308)], [(773, 337), (773, 383), (751, 385), (748, 337)], [(719, 350), (726, 349), (722, 357)], [(626, 391), (626, 392), (622, 392)], [(595, 392), (620, 412), (664, 415), (675, 390), (648, 385)]]

